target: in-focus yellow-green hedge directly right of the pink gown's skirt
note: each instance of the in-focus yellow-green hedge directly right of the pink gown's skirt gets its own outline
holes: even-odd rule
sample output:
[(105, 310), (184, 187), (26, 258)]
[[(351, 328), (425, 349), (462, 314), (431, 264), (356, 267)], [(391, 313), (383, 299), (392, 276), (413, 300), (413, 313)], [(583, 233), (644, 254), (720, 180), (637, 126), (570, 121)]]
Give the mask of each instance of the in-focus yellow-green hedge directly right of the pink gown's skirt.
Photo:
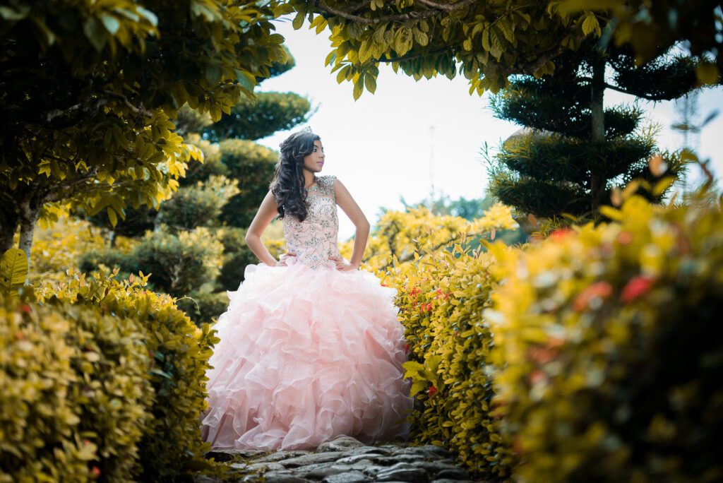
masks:
[(410, 419), (417, 444), (443, 445), (485, 476), (506, 476), (510, 453), (491, 416), (492, 332), (482, 319), (494, 286), (489, 253), (471, 252), (466, 235), (449, 251), (399, 266), (387, 283), (406, 328), (406, 377), (416, 395)]

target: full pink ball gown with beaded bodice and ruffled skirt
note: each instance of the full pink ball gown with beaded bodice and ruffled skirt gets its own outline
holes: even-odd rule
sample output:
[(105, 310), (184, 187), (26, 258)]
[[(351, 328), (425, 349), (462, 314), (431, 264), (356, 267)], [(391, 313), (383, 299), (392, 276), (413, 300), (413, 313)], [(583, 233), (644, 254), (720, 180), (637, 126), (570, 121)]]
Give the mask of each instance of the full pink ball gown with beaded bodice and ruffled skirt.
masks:
[(202, 437), (212, 448), (316, 448), (340, 435), (408, 434), (404, 329), (395, 290), (341, 272), (334, 176), (309, 189), (303, 223), (283, 218), (286, 266), (249, 265), (215, 329)]

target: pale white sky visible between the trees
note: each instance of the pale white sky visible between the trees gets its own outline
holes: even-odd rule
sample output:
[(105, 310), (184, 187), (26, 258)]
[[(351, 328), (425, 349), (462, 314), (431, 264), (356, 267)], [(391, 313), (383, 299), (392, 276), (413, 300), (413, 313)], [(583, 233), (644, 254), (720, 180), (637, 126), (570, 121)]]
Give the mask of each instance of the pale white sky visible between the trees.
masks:
[[(500, 141), (521, 127), (492, 116), (487, 95), (469, 94), (468, 81), (458, 74), (415, 82), (400, 70), (380, 66), (377, 90), (367, 90), (354, 101), (351, 82), (336, 82), (336, 72), (325, 67), (330, 52), (328, 31), (320, 35), (300, 30), (290, 20), (278, 20), (277, 32), (296, 59), (296, 67), (262, 82), (258, 91), (294, 92), (306, 95), (318, 106), (309, 126), (320, 135), (326, 154), (321, 174), (334, 174), (347, 187), (372, 226), (379, 208), (402, 209), (406, 202), (428, 197), (432, 184), (435, 197), (449, 195), (479, 198), (487, 187), (487, 168), (481, 155), (484, 142), (495, 153)], [(633, 98), (612, 90), (605, 93), (605, 105), (631, 102)], [(701, 95), (701, 118), (714, 109), (723, 110), (723, 88), (708, 89)], [(670, 129), (677, 118), (675, 103), (641, 103), (651, 120), (663, 125), (659, 147), (675, 150), (683, 137)], [(278, 150), (292, 131), (280, 131), (258, 140)], [(711, 159), (714, 174), (723, 174), (723, 112), (701, 132), (698, 155)], [(692, 178), (698, 179), (698, 168)], [(720, 181), (719, 181), (719, 184)], [(354, 234), (354, 225), (339, 211), (339, 238)]]

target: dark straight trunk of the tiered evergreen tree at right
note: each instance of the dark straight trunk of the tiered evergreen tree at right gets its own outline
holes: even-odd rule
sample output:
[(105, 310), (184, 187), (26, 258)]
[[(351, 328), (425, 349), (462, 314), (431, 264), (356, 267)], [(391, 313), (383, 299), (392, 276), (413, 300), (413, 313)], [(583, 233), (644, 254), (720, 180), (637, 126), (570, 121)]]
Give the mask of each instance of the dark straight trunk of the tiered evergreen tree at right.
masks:
[[(604, 52), (596, 51), (592, 62), (592, 84), (590, 86), (590, 110), (592, 111), (591, 140), (594, 144), (605, 141), (605, 111), (602, 103), (605, 92), (605, 59)], [(605, 165), (590, 161), (590, 208), (592, 215), (597, 215), (600, 200), (605, 189)]]

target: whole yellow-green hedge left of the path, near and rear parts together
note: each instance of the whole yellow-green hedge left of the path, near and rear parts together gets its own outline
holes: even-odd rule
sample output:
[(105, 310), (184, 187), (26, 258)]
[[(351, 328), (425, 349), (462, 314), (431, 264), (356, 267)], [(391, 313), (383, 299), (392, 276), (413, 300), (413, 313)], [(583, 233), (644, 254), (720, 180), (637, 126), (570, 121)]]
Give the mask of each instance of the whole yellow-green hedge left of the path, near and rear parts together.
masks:
[(21, 481), (221, 474), (203, 455), (210, 446), (199, 427), (218, 341), (210, 326), (143, 290), (147, 275), (122, 283), (102, 270), (90, 280), (68, 275), (36, 288), (36, 303), (4, 302), (2, 424), (27, 443), (3, 446), (3, 472), (21, 471), (13, 476)]

